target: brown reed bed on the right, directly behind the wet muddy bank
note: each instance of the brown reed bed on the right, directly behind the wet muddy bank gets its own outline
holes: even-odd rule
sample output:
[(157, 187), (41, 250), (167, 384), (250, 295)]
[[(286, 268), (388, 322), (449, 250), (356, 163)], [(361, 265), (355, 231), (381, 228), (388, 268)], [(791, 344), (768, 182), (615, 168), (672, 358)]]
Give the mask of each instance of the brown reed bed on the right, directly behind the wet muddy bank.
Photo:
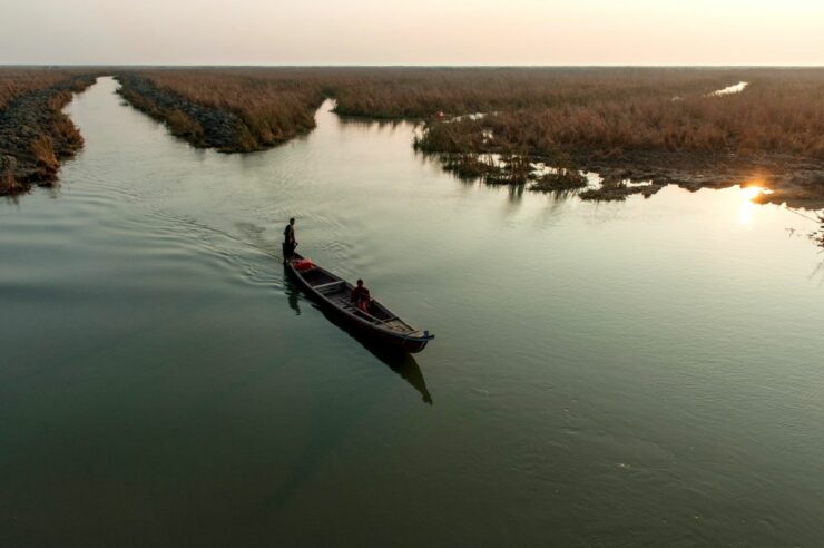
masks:
[[(824, 70), (654, 71), (644, 78), (586, 77), (537, 94), (523, 107), (496, 106), (480, 118), (432, 120), (416, 146), (438, 153), (559, 150), (774, 153), (824, 159)], [(746, 80), (738, 94), (712, 96), (718, 79)], [(666, 81), (666, 84), (664, 82)], [(640, 84), (640, 85), (639, 85)]]

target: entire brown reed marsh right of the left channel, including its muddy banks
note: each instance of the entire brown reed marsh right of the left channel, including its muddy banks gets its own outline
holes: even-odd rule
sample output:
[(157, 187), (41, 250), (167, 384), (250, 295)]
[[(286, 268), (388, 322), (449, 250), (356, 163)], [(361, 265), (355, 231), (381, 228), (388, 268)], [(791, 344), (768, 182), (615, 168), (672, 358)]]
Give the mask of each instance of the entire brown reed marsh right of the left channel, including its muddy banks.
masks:
[[(793, 187), (774, 199), (824, 199), (821, 68), (209, 68), (139, 76), (165, 97), (144, 92), (129, 99), (135, 106), (195, 145), (227, 151), (311, 130), (314, 110), (332, 98), (342, 116), (421, 123), (418, 150), (494, 184), (568, 190), (585, 186), (578, 169), (610, 170), (615, 184), (586, 196), (621, 199), (640, 192), (621, 183), (639, 166), (642, 180), (655, 183), (644, 195), (666, 184), (735, 184), (761, 169), (771, 184)], [(738, 82), (747, 82), (739, 92), (714, 94)], [(218, 123), (220, 112), (232, 119)], [(491, 154), (512, 158), (510, 167), (484, 165)], [(561, 169), (538, 180), (529, 166), (539, 163)], [(703, 172), (690, 176), (696, 166)]]

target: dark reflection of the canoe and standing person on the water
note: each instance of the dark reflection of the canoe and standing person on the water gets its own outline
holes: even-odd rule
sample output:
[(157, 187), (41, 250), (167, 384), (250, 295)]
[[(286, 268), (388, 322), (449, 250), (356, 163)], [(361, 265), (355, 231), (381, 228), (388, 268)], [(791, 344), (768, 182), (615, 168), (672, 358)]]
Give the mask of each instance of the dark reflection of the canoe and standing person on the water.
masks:
[[(285, 268), (284, 291), (288, 300), (290, 309), (295, 311), (295, 314), (300, 315), (301, 288), (290, 280)], [(364, 349), (382, 361), (389, 369), (403, 378), (404, 381), (410, 383), (412, 388), (421, 394), (421, 398), (425, 403), (432, 405), (432, 394), (429, 393), (429, 389), (426, 388), (426, 380), (423, 378), (423, 372), (412, 354), (389, 343), (363, 335), (363, 333), (353, 329), (347, 323), (342, 322), (335, 314), (330, 314), (316, 303), (312, 303), (312, 306), (317, 309), (330, 322), (349, 333), (352, 339), (361, 343)]]

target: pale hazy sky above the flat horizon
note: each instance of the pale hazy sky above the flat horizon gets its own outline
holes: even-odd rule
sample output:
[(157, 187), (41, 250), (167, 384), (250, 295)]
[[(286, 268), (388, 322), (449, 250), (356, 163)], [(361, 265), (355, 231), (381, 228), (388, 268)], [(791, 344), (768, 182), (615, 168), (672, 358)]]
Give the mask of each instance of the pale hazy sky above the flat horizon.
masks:
[(824, 65), (824, 0), (2, 0), (1, 63)]

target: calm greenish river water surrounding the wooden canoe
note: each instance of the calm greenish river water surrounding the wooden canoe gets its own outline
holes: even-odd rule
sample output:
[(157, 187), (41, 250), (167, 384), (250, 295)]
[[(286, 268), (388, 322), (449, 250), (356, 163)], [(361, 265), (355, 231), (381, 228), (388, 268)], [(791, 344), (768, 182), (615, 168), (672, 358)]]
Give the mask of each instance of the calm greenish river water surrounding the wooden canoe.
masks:
[[(0, 203), (2, 546), (816, 546), (815, 226), (460, 183), (408, 125), (195, 150), (101, 79)], [(304, 254), (438, 339), (331, 323)], [(795, 232), (788, 231), (795, 229)]]

